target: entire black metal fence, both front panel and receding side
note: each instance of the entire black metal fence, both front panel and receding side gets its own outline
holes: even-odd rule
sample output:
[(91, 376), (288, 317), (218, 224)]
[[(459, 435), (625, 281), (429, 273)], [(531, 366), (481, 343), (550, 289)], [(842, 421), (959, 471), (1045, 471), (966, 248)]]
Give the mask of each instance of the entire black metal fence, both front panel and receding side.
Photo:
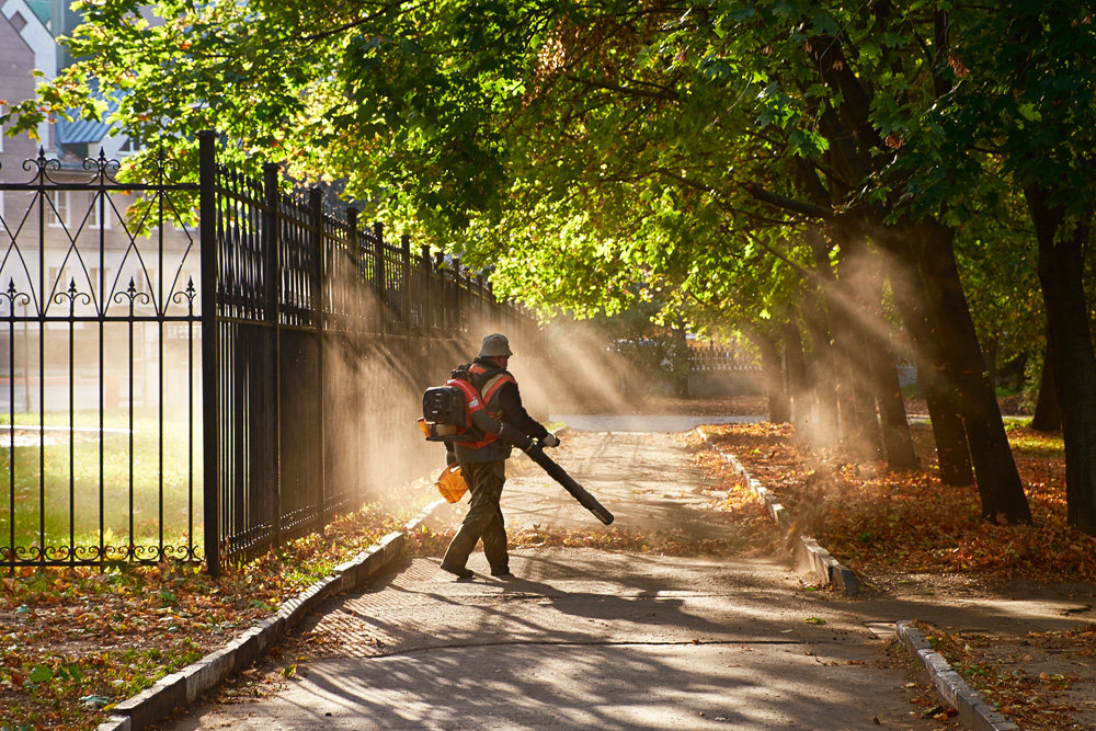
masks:
[(0, 183), (0, 566), (217, 572), (421, 477), (421, 391), (471, 340), (539, 350), (458, 262), (215, 146), (199, 185), (119, 183), (102, 153)]

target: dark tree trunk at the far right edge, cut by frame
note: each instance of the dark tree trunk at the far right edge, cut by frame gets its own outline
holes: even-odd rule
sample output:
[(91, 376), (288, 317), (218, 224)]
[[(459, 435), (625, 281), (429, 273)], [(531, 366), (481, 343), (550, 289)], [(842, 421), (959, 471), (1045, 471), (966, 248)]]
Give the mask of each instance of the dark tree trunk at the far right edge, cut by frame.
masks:
[(1030, 187), (1025, 194), (1039, 241), (1047, 341), (1062, 407), (1068, 519), (1096, 535), (1096, 355), (1082, 279), (1089, 222), (1061, 236), (1062, 213), (1048, 204), (1046, 191)]

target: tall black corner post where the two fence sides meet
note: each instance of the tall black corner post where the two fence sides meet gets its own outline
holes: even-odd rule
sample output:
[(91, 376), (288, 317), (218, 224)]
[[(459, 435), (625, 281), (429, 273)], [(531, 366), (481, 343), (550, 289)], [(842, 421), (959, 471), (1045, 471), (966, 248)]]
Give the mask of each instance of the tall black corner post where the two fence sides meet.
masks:
[(206, 571), (220, 575), (220, 442), (217, 429), (217, 133), (198, 133), (198, 236), (202, 249), (202, 504)]

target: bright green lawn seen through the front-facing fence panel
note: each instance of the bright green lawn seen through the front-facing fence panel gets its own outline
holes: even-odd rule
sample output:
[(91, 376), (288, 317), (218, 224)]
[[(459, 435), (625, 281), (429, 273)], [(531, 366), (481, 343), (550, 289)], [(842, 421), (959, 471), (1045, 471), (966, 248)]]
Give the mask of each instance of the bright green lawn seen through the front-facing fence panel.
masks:
[[(36, 427), (38, 420), (38, 414), (16, 414), (15, 423)], [(161, 456), (158, 420), (135, 421), (130, 459), (126, 414), (104, 418), (107, 430), (121, 432), (100, 434), (98, 413), (75, 414), (71, 437), (67, 429), (48, 429), (67, 427), (68, 421), (67, 413), (46, 415), (45, 445), (33, 429), (19, 432), (23, 446), (12, 449), (10, 433), (0, 431), (0, 550), (10, 546), (13, 532), (16, 548), (41, 546), (60, 558), (73, 540), (77, 546), (101, 540), (115, 547), (158, 546), (161, 525), (165, 545), (185, 544), (191, 526), (201, 545), (199, 430), (189, 460), (185, 423), (164, 424)]]

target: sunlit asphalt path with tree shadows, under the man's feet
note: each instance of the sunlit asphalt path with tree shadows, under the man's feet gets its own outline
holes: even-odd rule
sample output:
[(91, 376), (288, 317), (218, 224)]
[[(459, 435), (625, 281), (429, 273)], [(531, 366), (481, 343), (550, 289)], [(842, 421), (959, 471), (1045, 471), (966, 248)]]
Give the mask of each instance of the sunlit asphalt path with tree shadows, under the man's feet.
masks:
[[(572, 434), (557, 457), (617, 525), (718, 530), (678, 437)], [(511, 525), (604, 529), (514, 467)], [(278, 693), (164, 728), (939, 728), (863, 617), (803, 591), (783, 556), (533, 548), (513, 553), (513, 579), (484, 575), (480, 552), (469, 567), (475, 580), (455, 581), (415, 559), (332, 601), (302, 629), (334, 647)]]

